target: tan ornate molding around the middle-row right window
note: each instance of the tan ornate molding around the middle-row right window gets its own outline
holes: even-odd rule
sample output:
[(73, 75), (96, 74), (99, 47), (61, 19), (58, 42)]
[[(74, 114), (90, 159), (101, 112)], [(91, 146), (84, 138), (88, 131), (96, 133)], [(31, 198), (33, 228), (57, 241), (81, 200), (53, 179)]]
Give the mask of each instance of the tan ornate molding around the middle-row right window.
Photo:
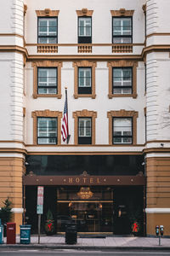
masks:
[[(138, 61), (109, 61), (107, 63), (107, 67), (109, 67), (109, 99), (113, 97), (133, 97), (134, 99), (137, 97), (137, 67)], [(133, 67), (133, 93), (132, 94), (113, 94), (113, 81), (112, 81), (112, 70), (113, 67)]]

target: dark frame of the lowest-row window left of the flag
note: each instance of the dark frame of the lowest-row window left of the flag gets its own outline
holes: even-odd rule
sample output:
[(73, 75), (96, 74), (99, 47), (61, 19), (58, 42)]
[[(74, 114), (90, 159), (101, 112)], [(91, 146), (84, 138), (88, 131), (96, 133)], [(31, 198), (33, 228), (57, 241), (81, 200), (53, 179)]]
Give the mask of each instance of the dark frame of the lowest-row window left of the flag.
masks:
[[(54, 128), (56, 128), (56, 131), (55, 131), (56, 136), (55, 137), (50, 137), (49, 136), (50, 132), (48, 131), (49, 130), (48, 122), (47, 122), (47, 126), (46, 127), (41, 127), (43, 129), (46, 128), (46, 131), (44, 131), (44, 133), (46, 132), (46, 134), (48, 136), (46, 136), (46, 137), (39, 136), (39, 133), (41, 132), (41, 131), (39, 131), (39, 128), (40, 128), (39, 120), (40, 119), (55, 119), (56, 120), (56, 127), (54, 127)], [(37, 117), (37, 145), (56, 145), (58, 143), (58, 136), (57, 136), (57, 134), (58, 134), (58, 127), (57, 127), (57, 124), (58, 124), (58, 118), (57, 117)], [(55, 140), (55, 143), (39, 143), (39, 139), (41, 139), (41, 138), (46, 138), (47, 140), (49, 140), (50, 138), (53, 138)]]

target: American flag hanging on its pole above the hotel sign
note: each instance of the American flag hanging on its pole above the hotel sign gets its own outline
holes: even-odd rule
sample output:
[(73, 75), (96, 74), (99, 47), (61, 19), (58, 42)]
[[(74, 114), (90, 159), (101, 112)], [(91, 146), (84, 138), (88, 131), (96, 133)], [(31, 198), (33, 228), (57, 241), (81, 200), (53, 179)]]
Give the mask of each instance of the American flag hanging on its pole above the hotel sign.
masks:
[(66, 89), (65, 89), (65, 108), (64, 108), (62, 125), (61, 125), (61, 137), (63, 139), (63, 142), (67, 140), (67, 144), (69, 143), (70, 135), (69, 135), (69, 124), (68, 124), (67, 90)]

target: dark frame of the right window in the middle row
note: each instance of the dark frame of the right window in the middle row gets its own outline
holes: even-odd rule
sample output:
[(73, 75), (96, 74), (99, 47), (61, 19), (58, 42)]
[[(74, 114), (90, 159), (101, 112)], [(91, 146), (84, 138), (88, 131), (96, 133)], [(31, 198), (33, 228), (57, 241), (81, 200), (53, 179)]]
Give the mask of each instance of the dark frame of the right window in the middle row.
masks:
[[(123, 69), (130, 69), (130, 71), (131, 71), (131, 85), (114, 85), (114, 70), (116, 70), (116, 69), (121, 69), (122, 71), (123, 71)], [(122, 80), (124, 79), (124, 76), (123, 76), (123, 72), (122, 72), (122, 77), (120, 77), (120, 78), (122, 78)], [(123, 93), (123, 92), (121, 92), (121, 93), (114, 93), (114, 89), (121, 89), (121, 90), (123, 90), (123, 89), (130, 89), (131, 90), (131, 92), (129, 93)], [(133, 67), (112, 67), (112, 94), (113, 95), (133, 95)]]

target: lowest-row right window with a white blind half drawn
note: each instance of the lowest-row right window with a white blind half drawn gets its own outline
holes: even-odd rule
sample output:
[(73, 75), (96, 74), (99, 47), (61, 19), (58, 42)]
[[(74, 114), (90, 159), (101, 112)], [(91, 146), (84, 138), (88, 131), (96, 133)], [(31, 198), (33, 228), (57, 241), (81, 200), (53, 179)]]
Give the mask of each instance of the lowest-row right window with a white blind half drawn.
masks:
[(113, 118), (113, 144), (132, 144), (132, 118)]

